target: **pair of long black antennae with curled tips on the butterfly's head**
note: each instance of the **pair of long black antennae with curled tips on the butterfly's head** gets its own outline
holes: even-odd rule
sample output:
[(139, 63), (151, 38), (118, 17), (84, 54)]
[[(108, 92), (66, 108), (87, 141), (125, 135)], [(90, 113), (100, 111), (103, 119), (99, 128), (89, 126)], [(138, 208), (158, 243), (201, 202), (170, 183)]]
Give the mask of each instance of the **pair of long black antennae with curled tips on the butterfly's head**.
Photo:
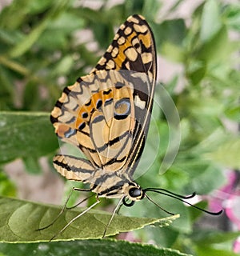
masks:
[[(204, 209), (202, 209), (202, 208), (200, 208), (200, 207), (198, 207), (198, 206), (194, 206), (194, 205), (191, 204), (190, 202), (186, 202), (186, 201), (184, 200), (184, 199), (194, 198), (194, 196), (196, 195), (195, 192), (194, 192), (193, 194), (190, 194), (189, 196), (182, 196), (181, 194), (175, 194), (175, 193), (170, 192), (170, 191), (168, 191), (168, 190), (158, 189), (158, 188), (147, 188), (147, 189), (142, 190), (142, 191), (143, 191), (143, 193), (146, 193), (146, 192), (155, 192), (155, 193), (158, 193), (158, 194), (164, 194), (164, 195), (166, 195), (166, 196), (168, 196), (168, 197), (170, 197), (170, 198), (175, 198), (175, 199), (177, 199), (177, 200), (179, 200), (179, 201), (181, 201), (181, 202), (184, 202), (184, 203), (186, 203), (187, 205), (192, 206), (192, 207), (194, 207), (194, 208), (196, 208), (196, 209), (198, 209), (198, 210), (202, 210), (202, 211), (205, 212), (206, 214), (210, 214), (210, 215), (220, 215), (220, 214), (222, 214), (222, 211), (223, 211), (223, 210), (219, 210), (218, 212), (211, 212), (211, 211), (209, 211), (209, 210), (204, 210)], [(150, 199), (149, 196), (147, 196), (146, 194), (145, 194), (145, 196), (146, 196), (146, 198), (148, 198), (148, 200), (150, 200), (150, 202), (153, 202), (153, 200)], [(154, 204), (155, 204), (156, 206), (158, 206), (157, 203), (154, 202)], [(158, 206), (158, 207), (159, 207), (160, 209), (162, 209), (162, 207), (160, 207), (160, 206)], [(166, 211), (166, 210), (164, 210), (164, 211)]]

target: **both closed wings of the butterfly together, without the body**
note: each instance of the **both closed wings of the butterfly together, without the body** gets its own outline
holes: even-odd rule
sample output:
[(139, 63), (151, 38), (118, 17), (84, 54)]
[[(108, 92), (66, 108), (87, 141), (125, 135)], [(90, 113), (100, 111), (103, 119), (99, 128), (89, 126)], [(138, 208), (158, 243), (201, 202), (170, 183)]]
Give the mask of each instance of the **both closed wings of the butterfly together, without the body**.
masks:
[(149, 127), (155, 58), (150, 27), (131, 16), (94, 70), (63, 90), (51, 113), (58, 137), (97, 168), (134, 171)]

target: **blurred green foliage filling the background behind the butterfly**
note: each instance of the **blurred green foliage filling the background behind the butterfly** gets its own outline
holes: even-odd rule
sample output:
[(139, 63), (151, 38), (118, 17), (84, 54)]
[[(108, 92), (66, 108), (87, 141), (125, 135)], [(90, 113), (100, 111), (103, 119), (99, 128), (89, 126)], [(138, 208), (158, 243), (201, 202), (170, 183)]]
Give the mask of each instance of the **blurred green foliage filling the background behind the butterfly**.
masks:
[[(240, 120), (239, 3), (203, 1), (186, 20), (173, 18), (184, 0), (176, 1), (162, 16), (160, 0), (126, 0), (114, 6), (109, 6), (110, 1), (99, 2), (100, 7), (90, 8), (78, 0), (15, 0), (2, 9), (0, 163), (3, 166), (14, 158), (22, 158), (31, 171), (38, 169), (40, 156), (54, 155), (58, 142), (48, 115), (62, 88), (95, 66), (112, 41), (116, 27), (131, 14), (142, 14), (152, 27), (158, 54), (182, 65), (182, 72), (173, 74), (164, 85), (178, 109), (182, 140), (174, 164), (160, 176), (169, 133), (166, 117), (156, 111), (160, 150), (150, 170), (138, 182), (142, 187), (164, 187), (181, 194), (210, 194), (226, 182), (224, 168), (240, 166), (238, 132), (225, 126), (226, 121), (237, 124)], [(162, 67), (158, 68), (161, 73)], [(179, 90), (182, 80), (184, 85)], [(156, 97), (161, 98), (158, 89)], [(47, 114), (38, 113), (41, 111)], [(154, 143), (154, 134), (149, 134), (149, 145)], [(1, 174), (0, 185), (1, 194), (14, 194), (13, 183), (5, 174)], [(234, 255), (231, 244), (237, 233), (206, 233), (194, 226), (201, 215), (196, 210), (170, 198), (153, 198), (182, 218), (167, 228), (139, 230), (135, 235), (142, 242), (151, 239), (158, 246), (198, 256)], [(122, 207), (121, 212), (139, 217), (162, 214), (148, 202), (147, 206), (146, 202), (139, 202), (131, 209)], [(213, 235), (221, 239), (203, 243)]]

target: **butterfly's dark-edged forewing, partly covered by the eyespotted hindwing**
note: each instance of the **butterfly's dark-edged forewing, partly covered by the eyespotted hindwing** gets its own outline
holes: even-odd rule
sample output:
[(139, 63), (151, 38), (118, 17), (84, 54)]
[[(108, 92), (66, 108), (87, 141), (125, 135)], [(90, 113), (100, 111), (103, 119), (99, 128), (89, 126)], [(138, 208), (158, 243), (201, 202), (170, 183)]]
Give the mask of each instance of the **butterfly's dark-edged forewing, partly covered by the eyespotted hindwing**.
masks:
[[(141, 15), (130, 16), (120, 26), (92, 72), (97, 70), (133, 70), (142, 73), (136, 75), (138, 78), (134, 82), (135, 127), (132, 148), (126, 161), (126, 168), (133, 174), (145, 145), (157, 76), (154, 35)], [(129, 78), (130, 73), (126, 73), (126, 76)]]

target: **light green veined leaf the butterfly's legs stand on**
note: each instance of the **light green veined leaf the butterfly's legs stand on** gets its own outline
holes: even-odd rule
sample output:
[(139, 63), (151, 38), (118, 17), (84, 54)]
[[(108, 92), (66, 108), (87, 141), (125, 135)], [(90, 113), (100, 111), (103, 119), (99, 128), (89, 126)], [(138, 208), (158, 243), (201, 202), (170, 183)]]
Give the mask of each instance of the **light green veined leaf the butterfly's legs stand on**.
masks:
[[(0, 241), (2, 242), (46, 242), (58, 234), (70, 220), (82, 209), (66, 210), (54, 225), (45, 230), (38, 230), (53, 222), (61, 210), (61, 206), (47, 206), (34, 202), (26, 202), (14, 198), (0, 198)], [(91, 210), (76, 219), (54, 240), (73, 240), (102, 238), (110, 220), (110, 214), (99, 210)], [(115, 215), (106, 235), (137, 230), (146, 225), (166, 226), (179, 215), (168, 218), (134, 218)]]

